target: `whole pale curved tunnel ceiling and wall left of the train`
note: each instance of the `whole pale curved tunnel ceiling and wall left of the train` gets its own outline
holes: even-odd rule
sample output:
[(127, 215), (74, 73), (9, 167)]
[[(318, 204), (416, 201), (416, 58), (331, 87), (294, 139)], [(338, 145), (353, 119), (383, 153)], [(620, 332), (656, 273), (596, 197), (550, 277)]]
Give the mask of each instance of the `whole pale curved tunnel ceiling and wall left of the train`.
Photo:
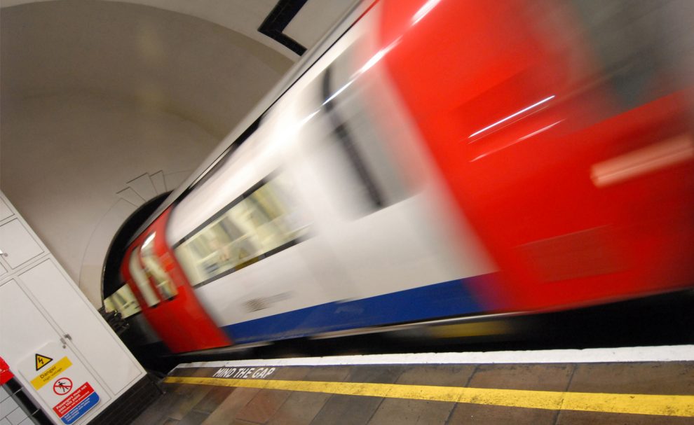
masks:
[[(308, 0), (283, 32), (311, 47), (353, 3)], [(95, 305), (118, 225), (156, 195), (134, 182), (175, 188), (298, 59), (258, 32), (275, 6), (2, 1), (1, 189)]]

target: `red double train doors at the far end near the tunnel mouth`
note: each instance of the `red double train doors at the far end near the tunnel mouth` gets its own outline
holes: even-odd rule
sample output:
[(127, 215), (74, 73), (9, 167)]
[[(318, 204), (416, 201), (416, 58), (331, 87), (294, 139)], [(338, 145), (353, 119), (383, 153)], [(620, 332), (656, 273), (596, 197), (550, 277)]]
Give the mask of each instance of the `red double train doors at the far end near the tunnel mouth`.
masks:
[(126, 252), (123, 277), (140, 302), (142, 313), (175, 353), (230, 345), (210, 319), (182, 273), (163, 229), (166, 211)]

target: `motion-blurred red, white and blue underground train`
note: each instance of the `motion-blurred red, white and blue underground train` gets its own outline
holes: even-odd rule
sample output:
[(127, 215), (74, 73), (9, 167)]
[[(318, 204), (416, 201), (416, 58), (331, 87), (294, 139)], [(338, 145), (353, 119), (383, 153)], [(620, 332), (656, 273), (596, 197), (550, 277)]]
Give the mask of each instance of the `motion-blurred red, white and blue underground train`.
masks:
[(689, 290), (691, 6), (360, 6), (107, 307), (181, 353)]

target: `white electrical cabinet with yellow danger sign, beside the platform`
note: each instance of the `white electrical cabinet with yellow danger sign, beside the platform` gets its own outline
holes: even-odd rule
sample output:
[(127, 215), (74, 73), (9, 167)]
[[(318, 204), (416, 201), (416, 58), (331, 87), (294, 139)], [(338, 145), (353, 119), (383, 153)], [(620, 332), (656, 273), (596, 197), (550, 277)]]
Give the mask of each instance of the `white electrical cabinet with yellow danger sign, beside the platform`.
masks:
[(55, 424), (88, 423), (146, 376), (1, 193), (0, 356)]

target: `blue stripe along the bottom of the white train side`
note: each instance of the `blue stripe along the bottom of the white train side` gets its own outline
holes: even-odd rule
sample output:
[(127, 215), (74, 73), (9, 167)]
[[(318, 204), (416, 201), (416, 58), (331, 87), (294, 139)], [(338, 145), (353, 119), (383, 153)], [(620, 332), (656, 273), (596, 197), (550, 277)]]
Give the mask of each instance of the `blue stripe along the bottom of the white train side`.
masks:
[(469, 288), (473, 281), (488, 278), (489, 275), (468, 277), (361, 300), (328, 302), (222, 329), (233, 342), (244, 344), (482, 312), (482, 305), (472, 297)]

